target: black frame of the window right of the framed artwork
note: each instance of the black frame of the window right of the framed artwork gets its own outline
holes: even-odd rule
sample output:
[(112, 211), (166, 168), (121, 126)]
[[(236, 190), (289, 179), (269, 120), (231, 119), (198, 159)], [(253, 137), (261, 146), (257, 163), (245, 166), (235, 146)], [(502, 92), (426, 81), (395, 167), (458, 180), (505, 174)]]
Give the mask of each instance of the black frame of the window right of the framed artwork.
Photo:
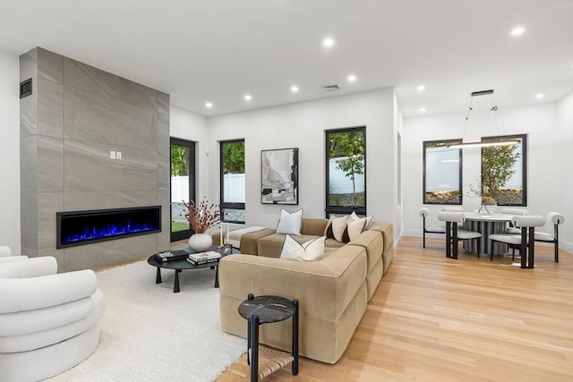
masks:
[[(364, 177), (364, 206), (329, 206), (329, 181), (330, 181), (330, 168), (329, 168), (329, 160), (330, 160), (330, 140), (329, 136), (331, 133), (340, 133), (340, 132), (357, 132), (362, 131), (364, 134), (364, 167), (363, 167), (363, 177)], [(366, 157), (366, 126), (354, 126), (354, 127), (346, 127), (342, 129), (329, 129), (324, 131), (324, 157), (325, 157), (325, 207), (324, 212), (325, 216), (328, 219), (330, 214), (341, 214), (341, 215), (349, 215), (353, 211), (356, 215), (366, 216), (366, 206), (367, 206), (367, 186), (366, 186), (366, 170), (367, 170), (367, 157)]]

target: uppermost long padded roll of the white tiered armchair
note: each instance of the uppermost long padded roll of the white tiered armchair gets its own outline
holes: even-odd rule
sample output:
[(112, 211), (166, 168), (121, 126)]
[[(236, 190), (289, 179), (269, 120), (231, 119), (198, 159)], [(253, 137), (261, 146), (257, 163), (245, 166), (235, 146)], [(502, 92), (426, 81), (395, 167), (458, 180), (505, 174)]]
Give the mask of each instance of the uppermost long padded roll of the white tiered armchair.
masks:
[(35, 310), (80, 300), (98, 288), (91, 269), (30, 278), (0, 278), (0, 313)]

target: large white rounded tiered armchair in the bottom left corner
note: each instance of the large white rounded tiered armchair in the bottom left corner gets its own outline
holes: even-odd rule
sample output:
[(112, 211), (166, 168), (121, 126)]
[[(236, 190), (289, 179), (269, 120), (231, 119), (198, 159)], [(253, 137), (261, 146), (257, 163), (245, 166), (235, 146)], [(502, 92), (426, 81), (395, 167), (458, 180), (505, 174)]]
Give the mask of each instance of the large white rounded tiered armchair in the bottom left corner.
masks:
[(3, 382), (56, 376), (98, 346), (104, 301), (95, 273), (56, 272), (51, 256), (0, 263)]

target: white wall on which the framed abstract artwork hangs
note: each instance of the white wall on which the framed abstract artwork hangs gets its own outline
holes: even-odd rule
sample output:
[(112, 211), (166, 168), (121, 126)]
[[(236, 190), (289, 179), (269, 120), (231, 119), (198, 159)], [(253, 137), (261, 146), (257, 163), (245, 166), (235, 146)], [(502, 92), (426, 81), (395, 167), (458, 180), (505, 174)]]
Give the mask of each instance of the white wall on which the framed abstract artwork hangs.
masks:
[[(246, 224), (275, 226), (281, 208), (304, 208), (304, 216), (324, 217), (324, 131), (366, 126), (367, 212), (374, 220), (395, 219), (394, 91), (380, 89), (350, 96), (269, 107), (209, 119), (210, 152), (220, 140), (245, 140)], [(299, 205), (261, 204), (261, 150), (299, 149)], [(218, 174), (211, 157), (210, 174)], [(209, 178), (209, 198), (218, 200), (218, 176)]]

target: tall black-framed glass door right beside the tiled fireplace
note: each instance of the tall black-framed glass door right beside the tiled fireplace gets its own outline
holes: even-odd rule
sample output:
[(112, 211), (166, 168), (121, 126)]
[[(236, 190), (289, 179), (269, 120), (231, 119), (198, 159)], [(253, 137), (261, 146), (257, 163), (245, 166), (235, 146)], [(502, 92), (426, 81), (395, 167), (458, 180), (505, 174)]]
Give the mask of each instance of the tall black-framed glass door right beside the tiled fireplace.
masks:
[(184, 201), (195, 199), (195, 142), (171, 139), (171, 241), (192, 235)]

